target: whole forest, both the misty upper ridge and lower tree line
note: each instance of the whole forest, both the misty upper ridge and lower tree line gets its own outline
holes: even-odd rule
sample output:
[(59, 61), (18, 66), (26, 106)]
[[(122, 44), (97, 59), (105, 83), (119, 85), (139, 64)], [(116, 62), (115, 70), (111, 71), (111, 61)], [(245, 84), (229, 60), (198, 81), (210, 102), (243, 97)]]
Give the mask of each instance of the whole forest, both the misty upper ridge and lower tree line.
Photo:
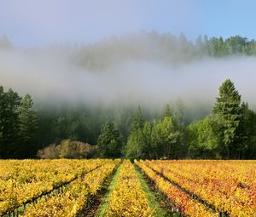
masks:
[[(95, 74), (128, 60), (179, 66), (206, 58), (224, 60), (256, 55), (256, 42), (247, 37), (200, 36), (192, 43), (183, 34), (176, 37), (156, 31), (110, 37), (90, 45), (53, 44), (52, 48), (68, 50), (74, 65)], [(0, 38), (1, 54), (14, 50), (17, 48), (8, 37)], [(239, 89), (229, 77), (219, 83), (212, 104), (192, 106), (182, 98), (153, 101), (150, 106), (126, 98), (111, 103), (106, 103), (106, 99), (93, 103), (81, 99), (76, 99), (76, 103), (55, 102), (50, 96), (49, 101), (38, 100), (33, 92), (20, 96), (15, 86), (4, 82), (0, 85), (1, 158), (42, 157), (42, 151), (47, 158), (47, 149), (59, 151), (56, 158), (76, 158), (60, 151), (67, 151), (68, 146), (84, 152), (88, 149), (90, 154), (81, 155), (85, 158), (256, 157), (256, 113), (241, 100)], [(81, 144), (86, 144), (86, 148)]]

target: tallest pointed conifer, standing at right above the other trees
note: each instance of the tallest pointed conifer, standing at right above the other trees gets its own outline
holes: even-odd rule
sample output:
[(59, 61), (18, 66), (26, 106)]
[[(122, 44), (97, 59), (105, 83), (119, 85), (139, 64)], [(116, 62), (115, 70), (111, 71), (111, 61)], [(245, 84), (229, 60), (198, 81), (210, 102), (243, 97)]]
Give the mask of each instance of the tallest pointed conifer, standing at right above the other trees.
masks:
[(227, 79), (219, 87), (213, 113), (218, 117), (221, 130), (224, 133), (222, 142), (224, 156), (234, 157), (236, 141), (238, 140), (238, 128), (241, 119), (241, 96), (236, 90), (234, 83)]

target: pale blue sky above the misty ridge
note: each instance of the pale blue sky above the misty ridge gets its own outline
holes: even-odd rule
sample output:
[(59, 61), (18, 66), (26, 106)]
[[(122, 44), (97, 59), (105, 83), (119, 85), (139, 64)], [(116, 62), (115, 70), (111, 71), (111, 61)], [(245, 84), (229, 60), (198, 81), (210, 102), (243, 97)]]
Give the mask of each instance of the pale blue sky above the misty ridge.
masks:
[(95, 43), (137, 31), (256, 38), (253, 0), (0, 0), (0, 36), (16, 46)]

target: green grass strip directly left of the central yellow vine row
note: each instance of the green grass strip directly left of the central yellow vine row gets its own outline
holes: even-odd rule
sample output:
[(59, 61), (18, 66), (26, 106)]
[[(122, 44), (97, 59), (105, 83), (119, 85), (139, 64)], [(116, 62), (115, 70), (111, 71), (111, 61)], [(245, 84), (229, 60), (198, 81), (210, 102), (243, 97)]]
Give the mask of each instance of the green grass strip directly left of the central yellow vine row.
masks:
[(116, 186), (117, 181), (119, 179), (121, 165), (122, 164), (120, 163), (119, 168), (117, 168), (115, 174), (113, 175), (113, 180), (111, 181), (110, 185), (108, 186), (108, 192), (96, 212), (96, 215), (95, 215), (96, 217), (105, 217), (106, 216), (106, 212), (108, 211), (109, 198), (110, 198), (110, 195), (112, 194), (113, 188)]

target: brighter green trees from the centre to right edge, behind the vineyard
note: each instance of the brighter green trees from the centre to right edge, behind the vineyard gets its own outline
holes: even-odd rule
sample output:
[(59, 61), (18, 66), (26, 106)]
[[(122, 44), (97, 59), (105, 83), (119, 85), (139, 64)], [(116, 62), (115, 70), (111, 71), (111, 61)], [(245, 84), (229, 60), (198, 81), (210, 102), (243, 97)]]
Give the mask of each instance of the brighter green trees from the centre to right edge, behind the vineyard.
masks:
[[(132, 159), (253, 159), (255, 123), (256, 113), (241, 102), (234, 83), (227, 79), (219, 88), (212, 114), (188, 126), (172, 114), (168, 105), (162, 117), (152, 122), (144, 120), (142, 107), (138, 106), (123, 153)], [(105, 144), (106, 149), (110, 147), (110, 143)]]

